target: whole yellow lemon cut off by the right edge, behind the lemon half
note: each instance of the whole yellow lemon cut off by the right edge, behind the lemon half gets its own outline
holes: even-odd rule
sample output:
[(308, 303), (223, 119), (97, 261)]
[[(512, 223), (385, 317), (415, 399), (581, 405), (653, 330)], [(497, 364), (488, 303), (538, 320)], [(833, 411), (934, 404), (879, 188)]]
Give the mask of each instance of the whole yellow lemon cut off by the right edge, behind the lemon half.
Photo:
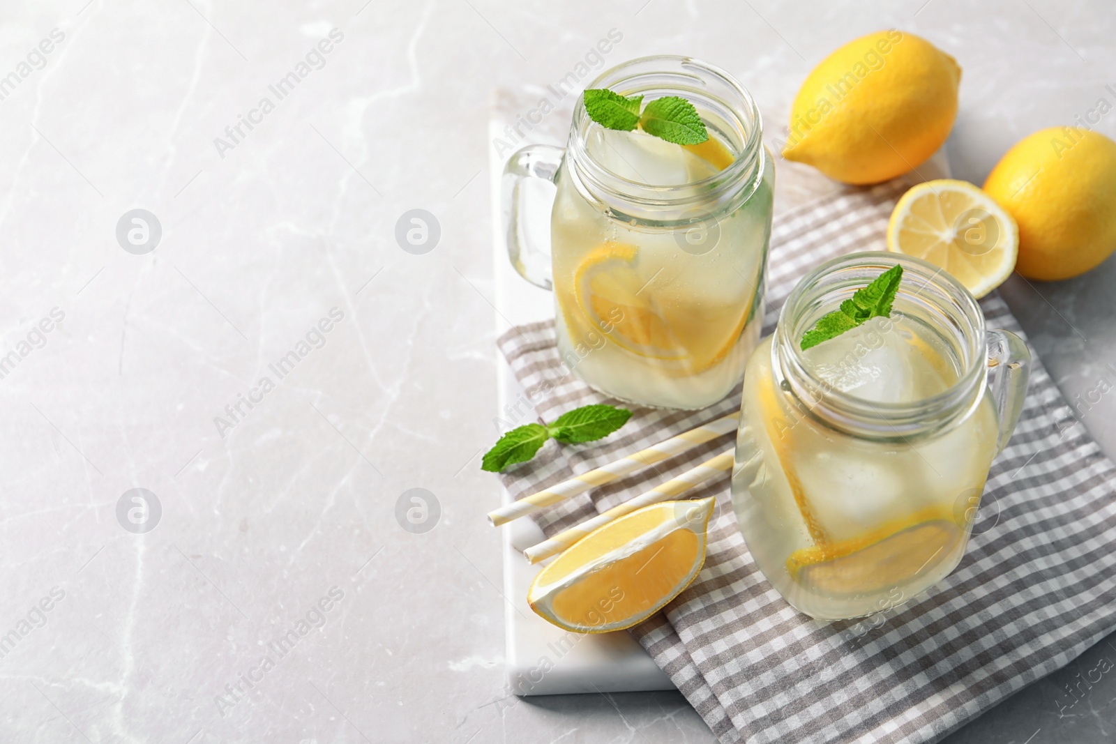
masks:
[(1116, 142), (1080, 127), (1020, 139), (984, 191), (1019, 224), (1016, 271), (1052, 281), (1085, 273), (1116, 249)]

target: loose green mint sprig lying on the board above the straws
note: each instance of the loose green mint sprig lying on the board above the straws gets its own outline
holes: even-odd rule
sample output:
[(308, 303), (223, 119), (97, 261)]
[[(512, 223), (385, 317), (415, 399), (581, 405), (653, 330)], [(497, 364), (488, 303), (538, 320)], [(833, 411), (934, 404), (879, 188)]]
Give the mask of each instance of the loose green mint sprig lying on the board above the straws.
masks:
[(526, 463), (546, 444), (555, 439), (562, 444), (580, 444), (608, 436), (632, 417), (632, 412), (616, 406), (594, 404), (567, 410), (554, 423), (525, 424), (500, 437), (481, 460), (481, 470), (499, 473), (508, 465)]

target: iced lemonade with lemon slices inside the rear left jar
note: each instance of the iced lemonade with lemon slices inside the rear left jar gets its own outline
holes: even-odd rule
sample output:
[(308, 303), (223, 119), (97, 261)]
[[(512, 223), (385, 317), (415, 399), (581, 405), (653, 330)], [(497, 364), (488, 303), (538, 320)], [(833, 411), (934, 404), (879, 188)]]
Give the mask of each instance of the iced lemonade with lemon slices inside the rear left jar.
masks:
[(738, 153), (712, 129), (701, 145), (594, 128), (586, 153), (618, 178), (667, 187), (670, 203), (619, 219), (560, 171), (551, 214), (558, 350), (623, 400), (701, 408), (724, 397), (759, 339), (775, 168), (708, 204)]

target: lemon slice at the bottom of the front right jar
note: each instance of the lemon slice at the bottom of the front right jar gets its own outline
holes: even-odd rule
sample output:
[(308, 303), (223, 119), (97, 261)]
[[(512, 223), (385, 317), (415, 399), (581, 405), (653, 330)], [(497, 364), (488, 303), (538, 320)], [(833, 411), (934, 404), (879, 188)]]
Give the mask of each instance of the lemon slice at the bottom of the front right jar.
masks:
[(828, 595), (860, 595), (910, 581), (949, 557), (962, 529), (951, 509), (931, 506), (849, 540), (796, 550), (791, 578)]

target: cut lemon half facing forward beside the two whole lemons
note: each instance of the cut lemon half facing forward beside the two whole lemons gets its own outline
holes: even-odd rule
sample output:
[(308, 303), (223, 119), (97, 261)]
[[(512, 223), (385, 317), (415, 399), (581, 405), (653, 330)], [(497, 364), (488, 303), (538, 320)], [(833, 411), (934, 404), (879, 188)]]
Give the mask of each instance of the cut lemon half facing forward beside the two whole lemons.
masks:
[(983, 191), (942, 178), (903, 194), (887, 223), (887, 250), (945, 269), (980, 299), (1016, 268), (1019, 230)]

